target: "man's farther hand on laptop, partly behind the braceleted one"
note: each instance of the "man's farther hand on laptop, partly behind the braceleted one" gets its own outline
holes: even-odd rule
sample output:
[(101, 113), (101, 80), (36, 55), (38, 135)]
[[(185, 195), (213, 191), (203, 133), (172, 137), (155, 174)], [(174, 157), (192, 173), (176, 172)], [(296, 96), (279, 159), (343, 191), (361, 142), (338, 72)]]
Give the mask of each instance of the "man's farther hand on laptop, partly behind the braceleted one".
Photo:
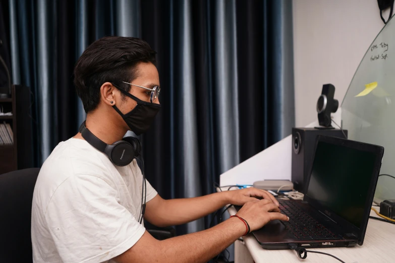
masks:
[(279, 206), (278, 201), (271, 193), (254, 187), (226, 191), (226, 194), (228, 194), (228, 202), (231, 205), (243, 206), (247, 202), (258, 201), (260, 199), (268, 199), (271, 200), (271, 202), (277, 207)]

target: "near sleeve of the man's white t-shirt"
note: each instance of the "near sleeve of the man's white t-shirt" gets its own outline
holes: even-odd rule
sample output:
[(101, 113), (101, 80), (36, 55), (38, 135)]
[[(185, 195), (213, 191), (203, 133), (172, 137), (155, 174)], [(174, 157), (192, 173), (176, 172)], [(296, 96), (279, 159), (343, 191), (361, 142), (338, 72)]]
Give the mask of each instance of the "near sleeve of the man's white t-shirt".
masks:
[(109, 260), (132, 247), (145, 232), (119, 204), (116, 189), (92, 175), (74, 175), (63, 182), (52, 196), (45, 220), (64, 262)]

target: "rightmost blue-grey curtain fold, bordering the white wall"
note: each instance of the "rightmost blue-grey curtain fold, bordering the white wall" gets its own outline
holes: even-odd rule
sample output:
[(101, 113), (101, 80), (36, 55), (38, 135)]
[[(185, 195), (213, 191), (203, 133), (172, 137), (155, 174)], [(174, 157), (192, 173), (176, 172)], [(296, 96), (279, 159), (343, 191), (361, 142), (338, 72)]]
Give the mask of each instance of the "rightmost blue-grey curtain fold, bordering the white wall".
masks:
[[(268, 15), (270, 45), (269, 69), (271, 81), (272, 142), (277, 142), (290, 134), (295, 126), (292, 5), (289, 1), (269, 1), (272, 13)], [(288, 5), (287, 5), (288, 4)], [(290, 114), (292, 113), (292, 114)]]

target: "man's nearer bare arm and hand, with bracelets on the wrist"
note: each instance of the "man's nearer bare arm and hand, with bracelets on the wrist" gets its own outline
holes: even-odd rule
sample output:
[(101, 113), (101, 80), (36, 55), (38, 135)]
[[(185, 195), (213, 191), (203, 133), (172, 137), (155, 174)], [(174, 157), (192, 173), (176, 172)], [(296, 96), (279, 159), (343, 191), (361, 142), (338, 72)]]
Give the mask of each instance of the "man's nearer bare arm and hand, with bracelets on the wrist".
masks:
[[(279, 209), (271, 200), (262, 200), (248, 202), (237, 215), (248, 222), (252, 231), (270, 220), (288, 221), (285, 215), (277, 212)], [(246, 226), (239, 218), (230, 218), (210, 229), (163, 241), (145, 232), (135, 245), (114, 259), (119, 263), (207, 262), (245, 232)]]

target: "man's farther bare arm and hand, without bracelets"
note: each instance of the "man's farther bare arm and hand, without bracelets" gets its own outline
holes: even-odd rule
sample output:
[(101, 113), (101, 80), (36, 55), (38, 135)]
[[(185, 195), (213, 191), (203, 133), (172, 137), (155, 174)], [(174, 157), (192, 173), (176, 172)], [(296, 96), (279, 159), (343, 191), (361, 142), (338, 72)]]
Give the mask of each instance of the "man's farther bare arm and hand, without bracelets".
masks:
[(147, 203), (144, 218), (158, 227), (181, 225), (211, 214), (225, 205), (242, 206), (257, 198), (269, 199), (278, 206), (273, 195), (253, 187), (172, 200), (164, 200), (157, 194)]

